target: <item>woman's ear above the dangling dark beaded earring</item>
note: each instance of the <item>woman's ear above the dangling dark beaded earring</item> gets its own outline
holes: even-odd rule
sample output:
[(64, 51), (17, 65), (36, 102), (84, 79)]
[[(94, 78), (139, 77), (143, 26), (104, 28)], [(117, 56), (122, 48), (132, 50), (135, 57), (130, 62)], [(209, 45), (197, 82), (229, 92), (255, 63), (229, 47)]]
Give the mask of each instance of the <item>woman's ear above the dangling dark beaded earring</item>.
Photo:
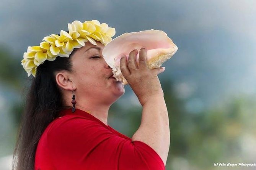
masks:
[(58, 72), (55, 75), (56, 83), (59, 85), (59, 87), (65, 89), (65, 90), (75, 90), (76, 87), (74, 85), (73, 80), (70, 77), (70, 74), (68, 72)]

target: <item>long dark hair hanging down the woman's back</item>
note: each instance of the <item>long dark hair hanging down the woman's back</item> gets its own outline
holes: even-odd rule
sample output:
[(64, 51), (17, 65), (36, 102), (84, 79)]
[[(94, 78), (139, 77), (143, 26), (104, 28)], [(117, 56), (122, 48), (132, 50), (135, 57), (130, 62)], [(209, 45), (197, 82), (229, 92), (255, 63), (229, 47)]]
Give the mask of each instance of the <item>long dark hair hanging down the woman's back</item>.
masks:
[(13, 170), (34, 170), (36, 148), (46, 127), (57, 117), (64, 106), (62, 94), (55, 81), (57, 71), (72, 71), (71, 56), (57, 56), (37, 67), (32, 79), (13, 152)]

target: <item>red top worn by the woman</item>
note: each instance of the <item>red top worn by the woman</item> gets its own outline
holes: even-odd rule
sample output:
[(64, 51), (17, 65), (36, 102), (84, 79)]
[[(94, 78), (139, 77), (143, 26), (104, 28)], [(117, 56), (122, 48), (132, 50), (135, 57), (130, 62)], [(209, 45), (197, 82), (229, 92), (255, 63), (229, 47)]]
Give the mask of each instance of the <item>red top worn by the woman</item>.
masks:
[(35, 170), (165, 170), (153, 148), (93, 115), (79, 109), (61, 115), (39, 140)]

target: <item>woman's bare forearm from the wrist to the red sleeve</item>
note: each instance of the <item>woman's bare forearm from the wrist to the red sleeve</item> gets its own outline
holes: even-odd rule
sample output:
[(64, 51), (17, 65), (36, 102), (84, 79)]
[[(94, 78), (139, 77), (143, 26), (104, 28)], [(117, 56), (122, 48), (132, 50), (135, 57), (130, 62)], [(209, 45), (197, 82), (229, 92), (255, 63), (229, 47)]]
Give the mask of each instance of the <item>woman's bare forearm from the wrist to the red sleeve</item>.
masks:
[(144, 103), (140, 127), (132, 136), (132, 141), (148, 144), (166, 164), (170, 147), (170, 127), (162, 90)]

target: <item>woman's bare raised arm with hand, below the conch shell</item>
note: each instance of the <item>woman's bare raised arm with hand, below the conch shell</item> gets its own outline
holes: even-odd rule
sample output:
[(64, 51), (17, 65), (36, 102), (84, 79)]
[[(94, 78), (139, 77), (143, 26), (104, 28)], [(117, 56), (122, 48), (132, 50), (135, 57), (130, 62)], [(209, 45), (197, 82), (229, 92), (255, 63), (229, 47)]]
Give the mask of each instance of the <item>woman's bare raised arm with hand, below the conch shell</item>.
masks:
[(157, 77), (164, 69), (149, 70), (146, 52), (146, 49), (140, 50), (139, 66), (135, 60), (137, 50), (130, 52), (127, 64), (125, 58), (120, 60), (121, 72), (143, 106), (141, 124), (132, 136), (132, 141), (148, 144), (166, 164), (170, 147), (170, 127), (163, 90)]

